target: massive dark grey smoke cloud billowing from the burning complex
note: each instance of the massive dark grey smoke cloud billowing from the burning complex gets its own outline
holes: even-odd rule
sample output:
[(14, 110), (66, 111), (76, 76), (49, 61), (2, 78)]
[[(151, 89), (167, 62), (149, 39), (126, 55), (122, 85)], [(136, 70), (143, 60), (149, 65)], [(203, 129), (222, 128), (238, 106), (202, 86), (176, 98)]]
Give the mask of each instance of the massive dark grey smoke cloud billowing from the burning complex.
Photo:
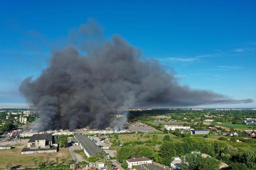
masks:
[(181, 86), (157, 60), (140, 58), (118, 35), (103, 42), (103, 30), (94, 22), (70, 35), (79, 42), (84, 39), (79, 51), (86, 50), (86, 55), (75, 46), (54, 52), (39, 77), (20, 85), (27, 102), (42, 110), (40, 130), (121, 128), (126, 120), (111, 115), (133, 107), (252, 102)]

